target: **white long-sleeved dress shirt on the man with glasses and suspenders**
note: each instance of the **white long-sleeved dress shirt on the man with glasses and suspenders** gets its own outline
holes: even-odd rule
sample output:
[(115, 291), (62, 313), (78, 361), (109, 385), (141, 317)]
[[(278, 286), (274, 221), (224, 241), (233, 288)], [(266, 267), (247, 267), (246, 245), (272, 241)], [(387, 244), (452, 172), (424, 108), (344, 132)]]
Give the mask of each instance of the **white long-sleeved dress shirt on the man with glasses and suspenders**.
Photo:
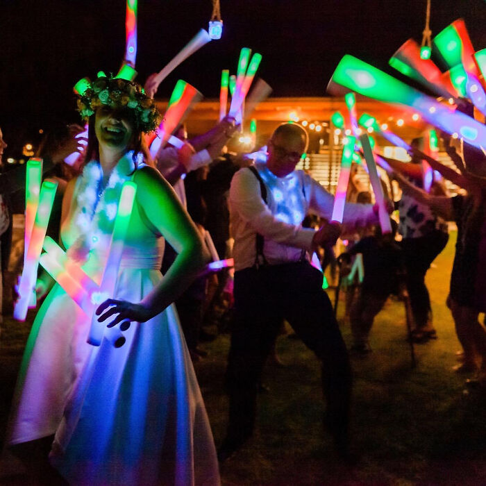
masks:
[[(267, 204), (250, 169), (240, 169), (231, 181), (229, 207), (235, 270), (255, 264), (257, 233), (265, 238), (263, 254), (269, 265), (298, 261), (302, 249), (312, 249), (315, 233), (302, 227), (305, 215), (313, 212), (330, 220), (333, 212), (334, 196), (304, 171), (296, 170), (279, 178), (265, 163), (255, 167), (267, 187)], [(371, 204), (347, 203), (344, 221), (364, 226), (378, 219)]]

